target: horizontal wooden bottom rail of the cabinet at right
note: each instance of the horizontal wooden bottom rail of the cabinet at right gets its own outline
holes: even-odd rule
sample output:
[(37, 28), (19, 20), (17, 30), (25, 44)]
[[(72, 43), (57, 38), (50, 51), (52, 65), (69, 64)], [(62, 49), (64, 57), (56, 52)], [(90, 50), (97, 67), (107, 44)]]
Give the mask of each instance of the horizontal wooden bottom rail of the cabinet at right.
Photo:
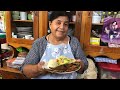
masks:
[(85, 46), (84, 50), (86, 55), (90, 55), (92, 57), (107, 56), (112, 59), (120, 59), (120, 48), (89, 45), (89, 46)]

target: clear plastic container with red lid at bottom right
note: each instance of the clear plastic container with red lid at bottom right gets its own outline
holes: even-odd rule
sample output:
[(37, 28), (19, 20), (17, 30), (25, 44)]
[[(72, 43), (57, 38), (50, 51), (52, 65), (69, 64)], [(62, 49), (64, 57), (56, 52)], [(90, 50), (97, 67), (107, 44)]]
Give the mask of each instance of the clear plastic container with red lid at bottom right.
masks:
[(100, 79), (120, 79), (120, 63), (99, 62)]

